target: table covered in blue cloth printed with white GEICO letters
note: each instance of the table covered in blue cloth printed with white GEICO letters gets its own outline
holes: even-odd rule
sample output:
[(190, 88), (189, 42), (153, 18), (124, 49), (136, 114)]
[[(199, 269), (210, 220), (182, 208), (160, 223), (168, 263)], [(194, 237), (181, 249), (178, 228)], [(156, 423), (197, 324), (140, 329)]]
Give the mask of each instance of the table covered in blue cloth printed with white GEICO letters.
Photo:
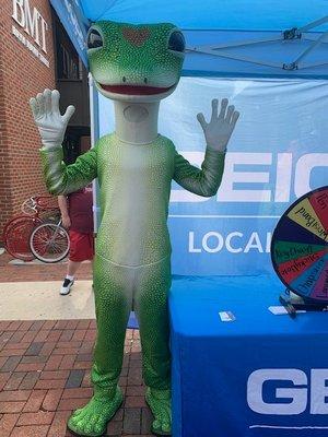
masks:
[(174, 437), (328, 436), (328, 314), (274, 316), (282, 291), (276, 277), (175, 277)]

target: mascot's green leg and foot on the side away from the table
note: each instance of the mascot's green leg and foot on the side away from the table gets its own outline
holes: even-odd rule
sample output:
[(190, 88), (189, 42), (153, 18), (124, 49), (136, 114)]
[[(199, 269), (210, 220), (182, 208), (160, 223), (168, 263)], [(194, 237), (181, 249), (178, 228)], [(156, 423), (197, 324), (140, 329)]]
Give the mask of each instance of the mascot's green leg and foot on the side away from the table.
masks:
[(131, 275), (126, 268), (96, 257), (94, 295), (97, 339), (91, 379), (94, 395), (68, 422), (82, 436), (101, 436), (122, 402), (118, 379), (122, 365), (126, 327), (132, 306)]

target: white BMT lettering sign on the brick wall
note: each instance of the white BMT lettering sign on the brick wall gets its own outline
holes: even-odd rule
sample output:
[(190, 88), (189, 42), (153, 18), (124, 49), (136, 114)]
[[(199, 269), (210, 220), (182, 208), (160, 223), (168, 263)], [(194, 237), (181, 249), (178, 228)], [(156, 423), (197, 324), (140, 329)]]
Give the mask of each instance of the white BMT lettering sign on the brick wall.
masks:
[(12, 34), (49, 68), (46, 38), (49, 26), (39, 10), (32, 2), (30, 3), (30, 0), (13, 0), (11, 16), (15, 22), (15, 25), (12, 25)]

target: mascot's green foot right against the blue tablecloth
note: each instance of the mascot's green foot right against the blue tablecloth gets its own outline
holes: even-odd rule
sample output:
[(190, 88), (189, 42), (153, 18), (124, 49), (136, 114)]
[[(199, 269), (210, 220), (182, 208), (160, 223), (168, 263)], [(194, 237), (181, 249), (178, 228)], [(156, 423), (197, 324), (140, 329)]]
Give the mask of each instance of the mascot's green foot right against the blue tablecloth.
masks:
[(149, 387), (145, 401), (154, 416), (152, 433), (156, 436), (171, 436), (171, 390), (155, 390)]

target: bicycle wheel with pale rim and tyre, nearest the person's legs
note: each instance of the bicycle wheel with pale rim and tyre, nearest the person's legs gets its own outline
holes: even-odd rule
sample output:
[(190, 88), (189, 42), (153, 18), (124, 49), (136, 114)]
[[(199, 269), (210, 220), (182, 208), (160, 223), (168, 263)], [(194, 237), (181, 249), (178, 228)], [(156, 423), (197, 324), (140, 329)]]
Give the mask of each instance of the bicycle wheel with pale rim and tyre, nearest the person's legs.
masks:
[(43, 262), (59, 262), (69, 252), (70, 239), (59, 224), (48, 222), (38, 225), (31, 234), (32, 253)]

